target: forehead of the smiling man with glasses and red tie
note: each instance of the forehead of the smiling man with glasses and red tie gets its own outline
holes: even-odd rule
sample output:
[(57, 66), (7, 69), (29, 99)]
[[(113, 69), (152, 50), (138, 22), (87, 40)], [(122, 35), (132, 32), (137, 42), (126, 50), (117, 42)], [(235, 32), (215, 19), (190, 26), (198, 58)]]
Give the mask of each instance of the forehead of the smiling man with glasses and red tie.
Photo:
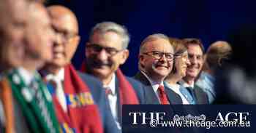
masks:
[(166, 39), (155, 39), (153, 41), (146, 42), (145, 46), (146, 51), (159, 51), (159, 52), (172, 52), (173, 47), (170, 44), (170, 41)]

